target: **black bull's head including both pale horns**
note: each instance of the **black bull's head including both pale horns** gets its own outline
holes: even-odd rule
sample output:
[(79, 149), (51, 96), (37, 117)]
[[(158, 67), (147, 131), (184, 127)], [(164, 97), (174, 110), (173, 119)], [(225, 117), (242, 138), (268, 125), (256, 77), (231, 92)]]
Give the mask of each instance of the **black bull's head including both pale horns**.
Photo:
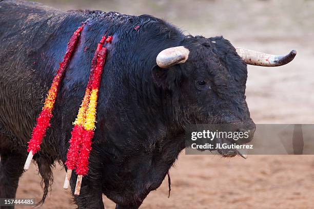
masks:
[[(222, 37), (187, 36), (182, 46), (158, 54), (153, 74), (158, 85), (172, 89), (173, 112), (183, 127), (188, 123), (232, 124), (233, 131), (250, 133), (248, 139), (237, 141), (242, 144), (252, 140), (256, 129), (245, 100), (246, 64), (282, 66), (295, 56), (295, 50), (276, 56), (234, 48)], [(175, 83), (181, 83), (180, 88)], [(226, 157), (241, 155), (237, 150), (218, 152)]]

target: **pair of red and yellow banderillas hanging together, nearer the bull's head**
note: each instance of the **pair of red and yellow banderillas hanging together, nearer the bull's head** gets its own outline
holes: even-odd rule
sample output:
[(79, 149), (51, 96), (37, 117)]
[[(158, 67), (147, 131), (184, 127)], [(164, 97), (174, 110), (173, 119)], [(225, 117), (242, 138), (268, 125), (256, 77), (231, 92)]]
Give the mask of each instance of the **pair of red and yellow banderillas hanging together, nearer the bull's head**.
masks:
[[(68, 189), (72, 170), (75, 169), (77, 176), (75, 195), (80, 194), (82, 178), (88, 173), (89, 154), (91, 151), (92, 138), (95, 130), (97, 97), (100, 88), (102, 72), (106, 59), (106, 48), (102, 48), (106, 37), (103, 36), (92, 59), (91, 72), (85, 96), (80, 110), (74, 122), (70, 147), (67, 153), (67, 175), (64, 189)], [(109, 36), (106, 43), (112, 39)]]

